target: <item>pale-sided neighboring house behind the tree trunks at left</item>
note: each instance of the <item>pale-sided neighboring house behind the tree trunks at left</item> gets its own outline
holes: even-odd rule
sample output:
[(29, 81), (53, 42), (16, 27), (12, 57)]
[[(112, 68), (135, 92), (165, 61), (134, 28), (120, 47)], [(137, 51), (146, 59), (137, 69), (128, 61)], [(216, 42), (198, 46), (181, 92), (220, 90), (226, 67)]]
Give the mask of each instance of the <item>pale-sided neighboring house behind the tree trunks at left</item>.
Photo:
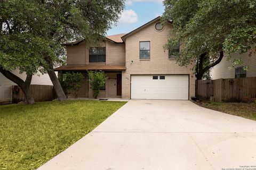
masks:
[[(13, 74), (18, 75), (19, 78), (25, 80), (27, 75), (25, 73), (20, 74), (18, 70), (12, 71)], [(39, 85), (52, 85), (52, 81), (48, 74), (33, 75), (31, 84)], [(0, 104), (9, 104), (12, 102), (12, 86), (17, 85), (11, 80), (4, 77), (0, 73)]]

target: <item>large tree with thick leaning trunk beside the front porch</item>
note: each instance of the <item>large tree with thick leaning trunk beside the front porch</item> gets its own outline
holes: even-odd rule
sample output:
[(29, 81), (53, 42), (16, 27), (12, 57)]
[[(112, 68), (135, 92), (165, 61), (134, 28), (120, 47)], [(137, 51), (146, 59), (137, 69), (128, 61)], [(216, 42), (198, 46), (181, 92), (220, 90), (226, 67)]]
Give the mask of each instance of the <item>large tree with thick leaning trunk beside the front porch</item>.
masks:
[[(61, 44), (78, 39), (84, 39), (87, 43), (93, 44), (103, 39), (106, 31), (117, 22), (123, 8), (124, 0), (1, 1), (1, 36), (11, 40), (17, 52), (22, 51), (25, 54), (12, 53), (12, 47), (8, 41), (1, 41), (1, 46), (5, 47), (5, 50), (0, 49), (2, 70), (10, 73), (13, 69), (20, 69), (29, 75), (35, 74), (36, 71), (47, 72), (59, 100), (66, 100), (67, 98), (53, 69), (63, 56)], [(20, 49), (19, 46), (16, 46), (16, 41), (19, 41), (15, 39), (17, 34), (28, 35), (24, 38), (26, 49)], [(34, 44), (31, 39), (41, 39), (38, 42), (40, 46)], [(31, 49), (34, 55), (31, 55), (27, 49)], [(14, 61), (15, 64), (6, 66), (6, 61), (10, 61), (10, 63)], [(26, 61), (26, 67), (23, 67), (24, 63), (17, 61)], [(33, 66), (31, 72), (29, 72), (30, 66)], [(15, 81), (13, 77), (7, 78)]]

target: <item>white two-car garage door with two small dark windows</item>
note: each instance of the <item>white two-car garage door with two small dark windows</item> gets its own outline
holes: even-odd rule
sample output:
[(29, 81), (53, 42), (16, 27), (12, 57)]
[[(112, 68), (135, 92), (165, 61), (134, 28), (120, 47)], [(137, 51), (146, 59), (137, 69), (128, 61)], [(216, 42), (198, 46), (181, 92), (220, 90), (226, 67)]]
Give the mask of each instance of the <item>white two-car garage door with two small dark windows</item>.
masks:
[(188, 75), (132, 75), (131, 98), (188, 100)]

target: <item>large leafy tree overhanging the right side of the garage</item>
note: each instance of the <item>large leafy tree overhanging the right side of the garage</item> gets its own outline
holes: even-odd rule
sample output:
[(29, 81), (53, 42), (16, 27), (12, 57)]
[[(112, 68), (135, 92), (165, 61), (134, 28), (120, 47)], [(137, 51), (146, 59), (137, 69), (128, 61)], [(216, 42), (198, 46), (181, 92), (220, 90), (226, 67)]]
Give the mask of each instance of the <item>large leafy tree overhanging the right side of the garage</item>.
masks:
[(255, 50), (255, 0), (165, 0), (164, 5), (163, 21), (172, 21), (177, 35), (165, 48), (180, 41), (177, 62), (194, 64), (198, 80), (224, 53)]

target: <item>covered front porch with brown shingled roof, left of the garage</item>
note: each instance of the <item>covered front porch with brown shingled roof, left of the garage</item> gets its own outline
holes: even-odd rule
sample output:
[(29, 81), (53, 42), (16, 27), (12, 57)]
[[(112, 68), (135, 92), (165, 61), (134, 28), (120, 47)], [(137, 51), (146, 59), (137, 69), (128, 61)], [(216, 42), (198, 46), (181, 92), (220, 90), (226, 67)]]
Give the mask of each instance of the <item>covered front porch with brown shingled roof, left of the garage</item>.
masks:
[(124, 65), (65, 65), (55, 69), (59, 77), (67, 72), (80, 72), (84, 76), (82, 87), (79, 88), (77, 96), (73, 93), (69, 98), (93, 98), (93, 91), (90, 88), (87, 71), (102, 70), (106, 73), (107, 80), (105, 86), (101, 87), (99, 99), (122, 98), (122, 71)]

